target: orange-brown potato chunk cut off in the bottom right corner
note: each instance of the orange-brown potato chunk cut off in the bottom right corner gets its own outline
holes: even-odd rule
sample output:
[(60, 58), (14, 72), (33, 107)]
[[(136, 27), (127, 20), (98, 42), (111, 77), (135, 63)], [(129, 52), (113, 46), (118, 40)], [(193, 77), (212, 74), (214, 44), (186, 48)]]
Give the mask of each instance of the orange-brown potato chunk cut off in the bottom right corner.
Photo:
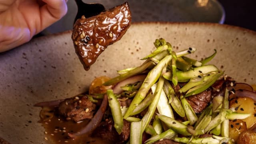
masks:
[(245, 131), (242, 132), (237, 140), (237, 144), (255, 144), (256, 142), (256, 132), (255, 131)]

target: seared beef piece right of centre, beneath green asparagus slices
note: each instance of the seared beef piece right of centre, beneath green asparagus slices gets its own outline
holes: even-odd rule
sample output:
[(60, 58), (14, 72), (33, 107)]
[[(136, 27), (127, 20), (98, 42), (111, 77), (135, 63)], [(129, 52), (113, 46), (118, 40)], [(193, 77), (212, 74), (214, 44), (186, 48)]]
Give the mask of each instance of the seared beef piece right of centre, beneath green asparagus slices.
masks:
[(195, 113), (202, 112), (212, 100), (211, 90), (205, 90), (199, 94), (188, 96), (186, 98)]

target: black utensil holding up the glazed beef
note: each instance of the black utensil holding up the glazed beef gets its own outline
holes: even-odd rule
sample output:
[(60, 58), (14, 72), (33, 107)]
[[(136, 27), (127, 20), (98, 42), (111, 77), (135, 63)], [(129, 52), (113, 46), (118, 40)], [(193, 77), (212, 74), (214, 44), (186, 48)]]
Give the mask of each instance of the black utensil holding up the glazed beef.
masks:
[(86, 18), (90, 18), (106, 10), (102, 4), (97, 4), (97, 3), (87, 4), (87, 3), (84, 3), (82, 0), (75, 0), (75, 1), (76, 1), (78, 11), (77, 11), (74, 23), (76, 22), (77, 19), (81, 18), (83, 15)]

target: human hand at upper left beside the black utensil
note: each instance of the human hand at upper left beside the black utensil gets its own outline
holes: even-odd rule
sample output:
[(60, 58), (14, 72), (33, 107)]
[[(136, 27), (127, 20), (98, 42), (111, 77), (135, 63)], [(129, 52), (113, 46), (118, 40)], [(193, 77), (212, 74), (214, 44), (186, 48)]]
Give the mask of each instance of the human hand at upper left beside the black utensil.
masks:
[(0, 0), (0, 52), (28, 42), (67, 12), (67, 0)]

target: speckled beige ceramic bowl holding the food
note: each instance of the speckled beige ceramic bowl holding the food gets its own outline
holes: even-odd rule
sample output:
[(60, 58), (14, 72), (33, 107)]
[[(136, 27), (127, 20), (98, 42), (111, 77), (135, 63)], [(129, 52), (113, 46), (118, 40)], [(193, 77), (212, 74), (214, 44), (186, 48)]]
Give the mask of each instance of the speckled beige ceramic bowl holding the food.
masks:
[[(71, 32), (36, 38), (0, 54), (0, 137), (12, 144), (44, 144), (38, 123), (40, 108), (33, 105), (84, 92), (96, 76), (115, 76), (116, 70), (141, 64), (165, 38), (176, 51), (194, 47), (194, 58), (217, 49), (212, 60), (238, 82), (256, 83), (256, 32), (207, 23), (136, 23), (124, 37), (100, 55), (90, 71), (76, 56)], [(1, 142), (0, 142), (1, 143)]]

